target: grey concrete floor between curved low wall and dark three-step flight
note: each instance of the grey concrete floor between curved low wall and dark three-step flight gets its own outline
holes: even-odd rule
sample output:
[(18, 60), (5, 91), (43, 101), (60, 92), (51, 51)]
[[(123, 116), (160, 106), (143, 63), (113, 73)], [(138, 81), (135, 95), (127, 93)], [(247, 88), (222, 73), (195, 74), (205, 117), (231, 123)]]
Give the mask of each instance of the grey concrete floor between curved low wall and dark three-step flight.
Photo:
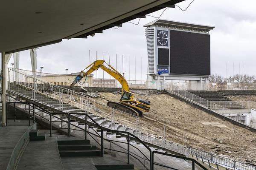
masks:
[(17, 170), (64, 170), (58, 152), (57, 135), (49, 137), (47, 134), (45, 141), (29, 141)]

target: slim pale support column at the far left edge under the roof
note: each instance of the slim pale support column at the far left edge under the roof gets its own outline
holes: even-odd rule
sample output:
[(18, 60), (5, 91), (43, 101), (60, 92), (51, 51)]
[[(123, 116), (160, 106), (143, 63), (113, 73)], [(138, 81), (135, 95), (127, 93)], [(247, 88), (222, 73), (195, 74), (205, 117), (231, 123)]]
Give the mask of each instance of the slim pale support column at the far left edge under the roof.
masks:
[(6, 126), (6, 55), (2, 53), (2, 126)]

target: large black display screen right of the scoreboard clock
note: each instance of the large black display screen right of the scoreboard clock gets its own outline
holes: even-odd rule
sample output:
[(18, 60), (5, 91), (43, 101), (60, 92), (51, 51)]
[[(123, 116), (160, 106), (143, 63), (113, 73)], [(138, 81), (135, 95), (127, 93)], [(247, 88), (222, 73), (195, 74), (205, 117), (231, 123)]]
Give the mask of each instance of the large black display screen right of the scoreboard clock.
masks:
[(170, 73), (210, 75), (210, 35), (169, 30)]

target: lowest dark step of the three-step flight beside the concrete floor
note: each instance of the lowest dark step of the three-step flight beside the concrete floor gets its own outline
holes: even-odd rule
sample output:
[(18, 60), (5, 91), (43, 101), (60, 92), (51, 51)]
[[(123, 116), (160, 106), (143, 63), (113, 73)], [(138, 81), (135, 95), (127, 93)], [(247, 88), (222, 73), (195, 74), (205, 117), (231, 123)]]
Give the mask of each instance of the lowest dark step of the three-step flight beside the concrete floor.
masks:
[(100, 156), (100, 150), (59, 150), (60, 156)]

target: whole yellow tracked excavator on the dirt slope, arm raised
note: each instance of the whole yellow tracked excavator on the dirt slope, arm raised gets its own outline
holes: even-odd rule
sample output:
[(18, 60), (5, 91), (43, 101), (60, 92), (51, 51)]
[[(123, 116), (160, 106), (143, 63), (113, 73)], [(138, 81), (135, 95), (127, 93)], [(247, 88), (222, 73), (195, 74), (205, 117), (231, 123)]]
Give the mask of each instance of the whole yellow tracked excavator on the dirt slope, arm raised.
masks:
[[(107, 68), (105, 65), (103, 65), (104, 63), (106, 63), (110, 68)], [(84, 70), (86, 70), (87, 68), (89, 68), (88, 71), (84, 72)], [(132, 114), (134, 116), (143, 117), (143, 112), (149, 112), (150, 101), (143, 99), (134, 99), (134, 94), (131, 93), (129, 90), (128, 82), (125, 80), (122, 74), (116, 71), (116, 69), (109, 65), (107, 62), (105, 62), (104, 60), (96, 60), (95, 62), (87, 66), (87, 68), (81, 71), (80, 74), (75, 78), (73, 83), (70, 85), (70, 89), (72, 89), (76, 85), (76, 83), (79, 82), (82, 78), (87, 77), (87, 75), (89, 75), (93, 71), (102, 68), (102, 70), (110, 74), (122, 85), (121, 99), (119, 100), (119, 102), (109, 101), (107, 104), (108, 106)]]

